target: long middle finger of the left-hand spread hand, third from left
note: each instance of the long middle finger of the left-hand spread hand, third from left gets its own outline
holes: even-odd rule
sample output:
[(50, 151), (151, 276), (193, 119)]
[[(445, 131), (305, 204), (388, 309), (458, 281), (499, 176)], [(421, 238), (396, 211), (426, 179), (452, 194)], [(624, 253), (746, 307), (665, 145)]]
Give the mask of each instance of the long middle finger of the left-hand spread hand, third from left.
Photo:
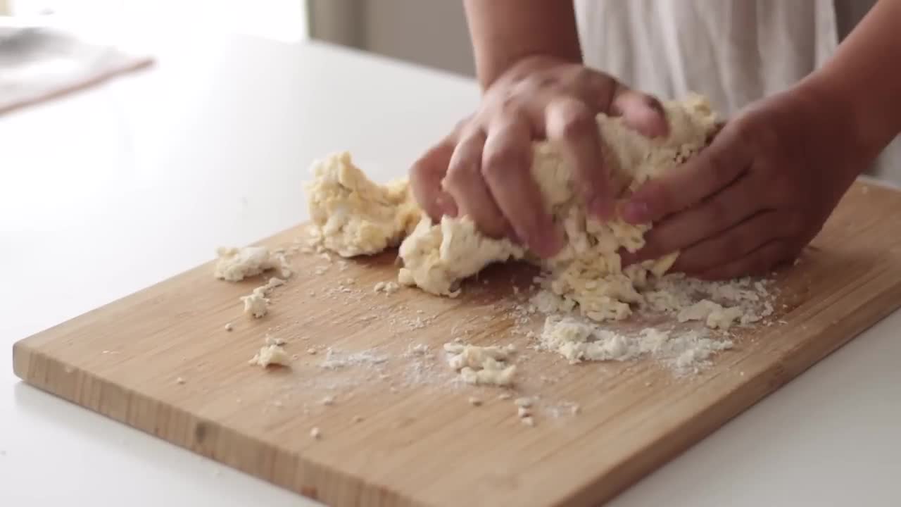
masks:
[(532, 133), (524, 115), (505, 115), (488, 132), (482, 175), (519, 240), (548, 258), (563, 247), (562, 233), (545, 211), (532, 177)]

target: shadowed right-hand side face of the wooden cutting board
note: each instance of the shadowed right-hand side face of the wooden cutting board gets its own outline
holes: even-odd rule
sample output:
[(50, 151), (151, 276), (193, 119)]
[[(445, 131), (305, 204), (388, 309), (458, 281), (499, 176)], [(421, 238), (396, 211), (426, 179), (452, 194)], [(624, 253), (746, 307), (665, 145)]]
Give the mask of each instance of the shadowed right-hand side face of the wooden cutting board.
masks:
[[(880, 307), (875, 304), (878, 302), (884, 302), (885, 305)], [(661, 466), (695, 447), (697, 443), (714, 434), (716, 430), (723, 428), (729, 421), (751, 409), (773, 392), (777, 392), (815, 364), (841, 349), (842, 346), (851, 343), (851, 340), (863, 334), (870, 327), (876, 326), (897, 309), (901, 309), (901, 285), (883, 290), (873, 298), (862, 301), (859, 305), (859, 308), (868, 307), (878, 310), (851, 313), (851, 316), (860, 316), (851, 320), (853, 323), (851, 331), (838, 332), (837, 330), (833, 331), (833, 327), (825, 327), (825, 332), (820, 336), (833, 335), (833, 339), (812, 340), (810, 343), (815, 346), (787, 351), (777, 362), (769, 365), (757, 375), (749, 377), (733, 392), (721, 393), (713, 403), (679, 424), (672, 434), (680, 435), (682, 438), (672, 438), (672, 435), (658, 438), (645, 447), (645, 449), (656, 447), (656, 453), (634, 453), (633, 456), (643, 459), (633, 458), (624, 461), (614, 467), (610, 474), (591, 484), (586, 484), (573, 494), (556, 502), (554, 506), (596, 507), (613, 500), (619, 494), (641, 482), (643, 478), (660, 469)], [(754, 382), (757, 379), (760, 379), (761, 382)], [(617, 475), (619, 478), (613, 480), (611, 475)], [(610, 484), (617, 485), (610, 487)]]

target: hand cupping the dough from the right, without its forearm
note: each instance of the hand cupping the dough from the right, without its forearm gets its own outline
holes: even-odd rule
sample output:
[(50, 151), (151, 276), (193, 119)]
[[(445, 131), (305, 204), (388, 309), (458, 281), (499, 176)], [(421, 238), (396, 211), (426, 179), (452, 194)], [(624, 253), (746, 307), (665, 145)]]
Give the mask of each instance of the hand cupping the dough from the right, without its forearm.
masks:
[(833, 101), (800, 88), (750, 106), (624, 204), (627, 222), (654, 225), (623, 264), (678, 250), (671, 271), (728, 279), (793, 260), (872, 160), (852, 125)]

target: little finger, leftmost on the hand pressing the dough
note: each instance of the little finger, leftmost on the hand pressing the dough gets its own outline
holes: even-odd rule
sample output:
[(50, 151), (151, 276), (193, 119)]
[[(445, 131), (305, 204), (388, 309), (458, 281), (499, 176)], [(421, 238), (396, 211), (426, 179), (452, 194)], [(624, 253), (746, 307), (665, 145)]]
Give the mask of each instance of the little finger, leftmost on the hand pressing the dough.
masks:
[(448, 137), (425, 152), (410, 168), (410, 189), (419, 206), (435, 222), (448, 215), (457, 216), (457, 205), (451, 195), (441, 189), (454, 151), (454, 139)]

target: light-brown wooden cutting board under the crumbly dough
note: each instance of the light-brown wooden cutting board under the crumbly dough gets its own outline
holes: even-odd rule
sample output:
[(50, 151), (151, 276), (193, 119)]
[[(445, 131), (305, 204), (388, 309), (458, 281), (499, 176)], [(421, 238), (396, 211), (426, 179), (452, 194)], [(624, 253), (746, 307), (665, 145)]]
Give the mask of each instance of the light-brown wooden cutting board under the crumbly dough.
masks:
[[(531, 280), (524, 266), (490, 269), (457, 300), (374, 293), (396, 277), (390, 253), (347, 263), (296, 255), (297, 274), (258, 320), (241, 315), (238, 298), (259, 279), (217, 281), (208, 263), (23, 339), (14, 369), (330, 505), (591, 505), (896, 309), (897, 217), (901, 193), (855, 184), (803, 261), (778, 274), (785, 323), (745, 333), (683, 379), (650, 361), (573, 366), (527, 349), (504, 302)], [(303, 236), (298, 226), (262, 244)], [(248, 364), (267, 333), (287, 340), (289, 369)], [(497, 389), (453, 381), (441, 345), (456, 336), (519, 345), (516, 395), (539, 396), (535, 427)], [(429, 351), (416, 354), (418, 344)]]

